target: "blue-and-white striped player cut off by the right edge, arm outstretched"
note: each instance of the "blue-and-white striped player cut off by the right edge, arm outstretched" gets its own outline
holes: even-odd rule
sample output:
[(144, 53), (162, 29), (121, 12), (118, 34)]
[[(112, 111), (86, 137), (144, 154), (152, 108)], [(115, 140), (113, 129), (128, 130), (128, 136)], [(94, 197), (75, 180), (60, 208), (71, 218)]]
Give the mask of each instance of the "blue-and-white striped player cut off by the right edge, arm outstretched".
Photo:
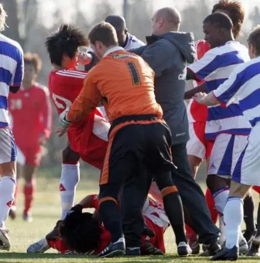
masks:
[(260, 186), (260, 26), (248, 37), (251, 61), (236, 67), (228, 80), (209, 94), (197, 93), (195, 99), (207, 106), (239, 105), (252, 130), (232, 173), (230, 192), (224, 208), (226, 247), (212, 260), (237, 260), (239, 233), (243, 221), (243, 198), (252, 185)]

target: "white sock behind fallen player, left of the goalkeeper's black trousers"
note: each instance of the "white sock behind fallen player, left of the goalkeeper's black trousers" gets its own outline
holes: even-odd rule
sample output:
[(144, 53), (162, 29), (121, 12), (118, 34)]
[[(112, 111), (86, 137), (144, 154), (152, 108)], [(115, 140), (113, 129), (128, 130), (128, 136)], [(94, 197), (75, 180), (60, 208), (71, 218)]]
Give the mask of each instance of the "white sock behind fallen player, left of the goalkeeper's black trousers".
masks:
[(60, 196), (63, 220), (74, 205), (77, 183), (80, 181), (80, 163), (62, 164), (60, 179)]

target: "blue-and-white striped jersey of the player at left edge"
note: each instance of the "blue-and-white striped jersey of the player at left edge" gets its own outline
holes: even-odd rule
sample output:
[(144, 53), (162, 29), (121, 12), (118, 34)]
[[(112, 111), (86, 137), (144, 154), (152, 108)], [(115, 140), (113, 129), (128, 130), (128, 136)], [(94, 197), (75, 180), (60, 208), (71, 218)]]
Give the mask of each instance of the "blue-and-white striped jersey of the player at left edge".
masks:
[(23, 71), (23, 51), (20, 44), (0, 34), (0, 128), (9, 126), (9, 88), (21, 85)]

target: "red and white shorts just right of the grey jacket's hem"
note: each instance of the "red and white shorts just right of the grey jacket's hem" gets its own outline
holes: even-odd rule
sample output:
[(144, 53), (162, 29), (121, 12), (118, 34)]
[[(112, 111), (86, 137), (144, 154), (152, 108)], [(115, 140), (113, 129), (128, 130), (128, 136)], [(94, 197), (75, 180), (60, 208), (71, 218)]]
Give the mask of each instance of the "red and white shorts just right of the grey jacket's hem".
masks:
[(189, 124), (190, 139), (187, 142), (187, 153), (188, 155), (194, 155), (202, 160), (204, 158), (209, 160), (214, 141), (205, 139), (205, 126), (206, 123), (204, 122)]

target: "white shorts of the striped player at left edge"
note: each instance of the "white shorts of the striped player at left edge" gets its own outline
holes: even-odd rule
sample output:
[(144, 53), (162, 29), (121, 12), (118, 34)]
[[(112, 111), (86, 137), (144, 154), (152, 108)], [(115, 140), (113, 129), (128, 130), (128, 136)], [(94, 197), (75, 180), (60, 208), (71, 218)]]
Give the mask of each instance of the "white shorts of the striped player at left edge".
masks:
[(0, 164), (17, 158), (14, 136), (9, 127), (0, 129)]

